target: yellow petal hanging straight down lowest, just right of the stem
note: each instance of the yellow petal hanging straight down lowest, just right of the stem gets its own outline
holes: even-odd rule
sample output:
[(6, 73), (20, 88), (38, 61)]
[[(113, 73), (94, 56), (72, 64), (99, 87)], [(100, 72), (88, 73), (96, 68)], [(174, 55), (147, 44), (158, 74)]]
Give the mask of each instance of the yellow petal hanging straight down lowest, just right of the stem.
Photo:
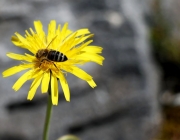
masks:
[(51, 74), (51, 99), (53, 105), (58, 104), (58, 82), (54, 74)]

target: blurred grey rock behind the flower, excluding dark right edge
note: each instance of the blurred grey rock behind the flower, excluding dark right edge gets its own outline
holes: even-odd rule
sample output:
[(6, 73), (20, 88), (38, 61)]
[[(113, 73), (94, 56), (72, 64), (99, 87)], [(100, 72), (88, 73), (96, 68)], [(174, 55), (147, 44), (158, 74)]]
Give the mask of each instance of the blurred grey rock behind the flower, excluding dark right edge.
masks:
[[(68, 21), (73, 30), (88, 27), (95, 34), (93, 44), (104, 48), (103, 67), (95, 64), (83, 67), (93, 75), (98, 85), (95, 89), (68, 74), (71, 102), (65, 101), (60, 90), (59, 105), (54, 107), (51, 121), (51, 140), (69, 133), (84, 140), (151, 140), (154, 137), (157, 131), (154, 128), (160, 122), (159, 76), (143, 19), (150, 12), (148, 0), (4, 0), (0, 5), (2, 2), (6, 8), (1, 9), (0, 28), (7, 29), (0, 32), (0, 72), (17, 64), (5, 56), (7, 51), (25, 52), (10, 43), (10, 36), (15, 31), (24, 34), (37, 19), (45, 25), (51, 19), (58, 23)], [(11, 87), (21, 74), (0, 80), (2, 140), (42, 138), (47, 94), (41, 95), (38, 90), (33, 101), (27, 101), (30, 82), (15, 93)]]

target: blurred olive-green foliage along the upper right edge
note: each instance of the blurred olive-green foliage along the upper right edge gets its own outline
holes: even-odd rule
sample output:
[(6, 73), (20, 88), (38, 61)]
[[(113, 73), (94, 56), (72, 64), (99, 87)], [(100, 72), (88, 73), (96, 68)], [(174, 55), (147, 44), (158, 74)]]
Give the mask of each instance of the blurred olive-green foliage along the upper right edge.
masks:
[(150, 32), (153, 52), (160, 63), (171, 62), (180, 64), (180, 41), (172, 36), (171, 23), (163, 15), (160, 3), (155, 0), (153, 5), (153, 25)]

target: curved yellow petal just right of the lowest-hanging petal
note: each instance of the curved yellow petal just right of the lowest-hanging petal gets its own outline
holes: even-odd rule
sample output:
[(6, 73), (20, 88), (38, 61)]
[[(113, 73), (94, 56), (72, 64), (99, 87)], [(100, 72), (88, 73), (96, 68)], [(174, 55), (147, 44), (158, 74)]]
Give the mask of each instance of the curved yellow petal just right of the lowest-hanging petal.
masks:
[(69, 86), (68, 86), (68, 83), (66, 81), (66, 78), (64, 77), (64, 75), (61, 72), (59, 72), (56, 75), (56, 77), (59, 78), (59, 81), (60, 81), (61, 87), (63, 89), (66, 101), (70, 101), (70, 91), (69, 91)]

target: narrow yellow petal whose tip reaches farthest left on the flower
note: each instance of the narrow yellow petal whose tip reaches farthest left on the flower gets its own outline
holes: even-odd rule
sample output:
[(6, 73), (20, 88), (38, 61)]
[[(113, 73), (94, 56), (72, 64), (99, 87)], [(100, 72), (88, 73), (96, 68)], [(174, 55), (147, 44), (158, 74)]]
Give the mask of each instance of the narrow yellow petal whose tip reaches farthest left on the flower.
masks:
[(19, 65), (19, 66), (14, 66), (14, 67), (11, 67), (7, 70), (5, 70), (2, 75), (3, 77), (8, 77), (8, 76), (11, 76), (13, 74), (16, 74), (22, 70), (26, 70), (26, 69), (29, 69), (29, 68), (33, 68), (33, 64), (22, 64), (22, 65)]

